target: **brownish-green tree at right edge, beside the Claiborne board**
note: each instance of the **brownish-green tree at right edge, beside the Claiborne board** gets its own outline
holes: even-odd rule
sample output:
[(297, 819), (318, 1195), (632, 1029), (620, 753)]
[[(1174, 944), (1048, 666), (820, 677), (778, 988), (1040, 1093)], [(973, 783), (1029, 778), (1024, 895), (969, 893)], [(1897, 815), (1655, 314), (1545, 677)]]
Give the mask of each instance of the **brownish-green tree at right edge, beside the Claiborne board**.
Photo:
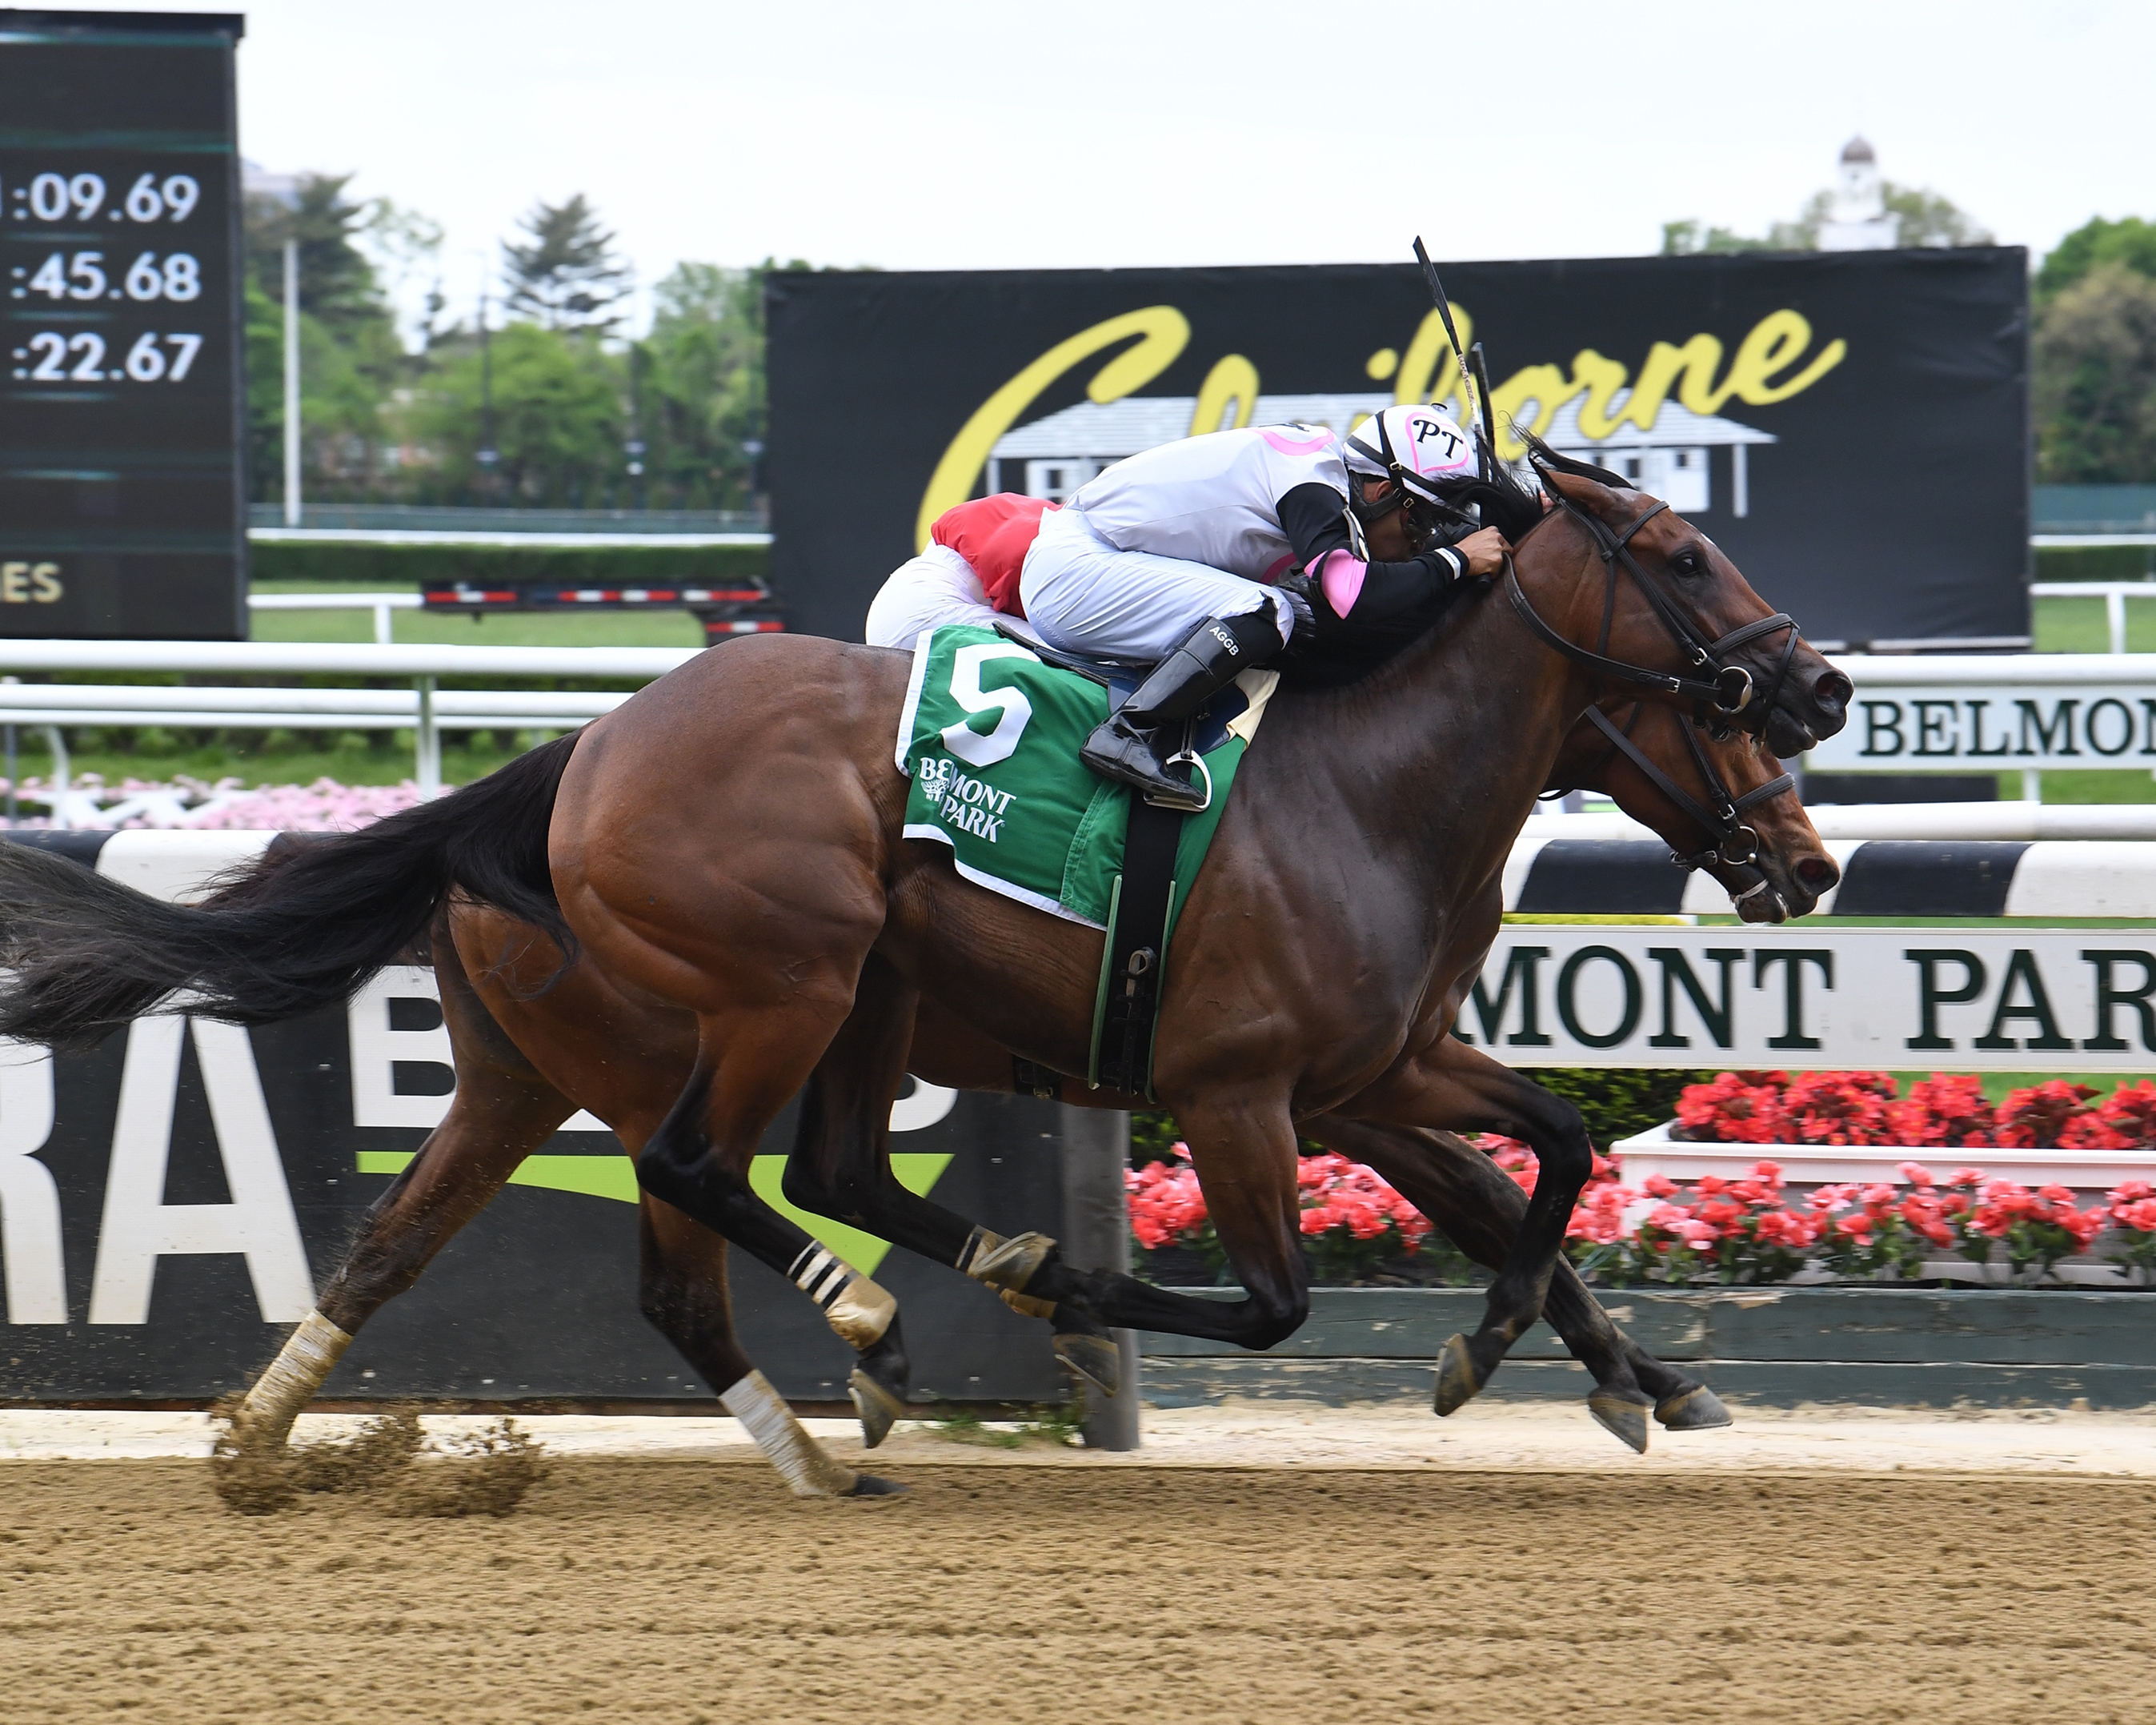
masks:
[(2093, 265), (2037, 315), (2033, 360), (2037, 479), (2156, 483), (2156, 280)]

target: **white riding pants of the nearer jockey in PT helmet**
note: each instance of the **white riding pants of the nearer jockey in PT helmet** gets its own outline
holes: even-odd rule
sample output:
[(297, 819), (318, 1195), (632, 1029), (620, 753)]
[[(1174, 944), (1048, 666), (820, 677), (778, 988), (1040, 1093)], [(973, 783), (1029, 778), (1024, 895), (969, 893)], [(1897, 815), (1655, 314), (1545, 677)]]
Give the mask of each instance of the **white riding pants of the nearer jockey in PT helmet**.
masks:
[(1283, 640), (1296, 625), (1270, 586), (1179, 556), (1117, 550), (1069, 505), (1041, 518), (1018, 593), (1050, 647), (1115, 660), (1162, 660), (1207, 617), (1261, 606), (1272, 606)]

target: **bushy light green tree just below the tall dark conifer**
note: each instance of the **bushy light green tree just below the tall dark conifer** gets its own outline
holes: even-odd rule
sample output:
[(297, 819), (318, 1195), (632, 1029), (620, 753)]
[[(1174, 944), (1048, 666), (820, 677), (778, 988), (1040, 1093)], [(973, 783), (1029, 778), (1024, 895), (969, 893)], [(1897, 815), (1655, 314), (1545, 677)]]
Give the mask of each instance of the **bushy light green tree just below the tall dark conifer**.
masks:
[[(410, 429), (433, 457), (436, 502), (470, 502), (483, 431), (481, 349), (459, 332), (410, 410)], [(595, 341), (537, 323), (492, 336), (494, 446), (505, 502), (599, 507), (621, 474), (623, 369)]]

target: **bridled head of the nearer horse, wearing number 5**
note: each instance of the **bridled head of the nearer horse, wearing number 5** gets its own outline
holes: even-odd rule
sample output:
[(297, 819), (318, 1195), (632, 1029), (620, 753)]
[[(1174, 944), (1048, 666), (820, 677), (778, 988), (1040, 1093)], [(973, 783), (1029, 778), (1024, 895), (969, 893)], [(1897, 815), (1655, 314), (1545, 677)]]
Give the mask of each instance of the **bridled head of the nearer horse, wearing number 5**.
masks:
[(1529, 528), (1537, 556), (1522, 546), (1511, 591), (1548, 645), (1617, 692), (1684, 703), (1777, 755), (1848, 724), (1850, 679), (1705, 533), (1602, 468), (1539, 442), (1533, 459), (1554, 507)]

